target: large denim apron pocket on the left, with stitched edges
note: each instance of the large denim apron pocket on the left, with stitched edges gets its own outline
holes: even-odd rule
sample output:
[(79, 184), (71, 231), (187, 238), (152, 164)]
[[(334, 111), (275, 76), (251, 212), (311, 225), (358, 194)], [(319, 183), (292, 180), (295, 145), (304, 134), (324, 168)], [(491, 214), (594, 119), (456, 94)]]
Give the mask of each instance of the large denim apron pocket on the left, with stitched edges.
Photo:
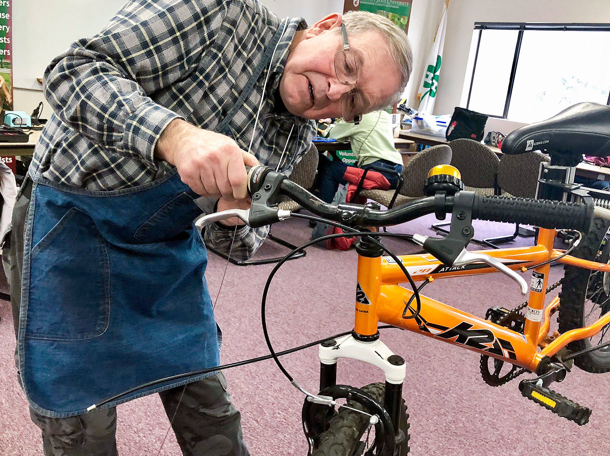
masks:
[(32, 248), (26, 337), (82, 340), (110, 322), (110, 265), (93, 219), (71, 208)]

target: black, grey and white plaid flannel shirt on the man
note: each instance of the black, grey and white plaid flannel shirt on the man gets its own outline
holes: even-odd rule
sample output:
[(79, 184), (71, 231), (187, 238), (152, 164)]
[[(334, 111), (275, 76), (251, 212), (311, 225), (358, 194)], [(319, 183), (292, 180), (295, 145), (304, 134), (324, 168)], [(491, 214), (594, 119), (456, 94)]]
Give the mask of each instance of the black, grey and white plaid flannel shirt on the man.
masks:
[[(54, 113), (35, 148), (30, 174), (93, 191), (163, 178), (173, 170), (154, 157), (163, 128), (183, 118), (215, 130), (283, 26), (256, 0), (127, 2), (98, 35), (76, 41), (46, 69), (45, 96)], [(260, 163), (279, 166), (287, 175), (315, 132), (311, 121), (274, 109), (290, 43), (305, 27), (303, 19), (289, 19), (265, 93), (268, 67), (229, 122), (232, 138), (248, 150), (264, 97), (252, 152)], [(212, 201), (199, 203), (212, 211)], [(247, 259), (268, 230), (211, 225), (204, 239), (225, 252), (235, 239), (231, 256)]]

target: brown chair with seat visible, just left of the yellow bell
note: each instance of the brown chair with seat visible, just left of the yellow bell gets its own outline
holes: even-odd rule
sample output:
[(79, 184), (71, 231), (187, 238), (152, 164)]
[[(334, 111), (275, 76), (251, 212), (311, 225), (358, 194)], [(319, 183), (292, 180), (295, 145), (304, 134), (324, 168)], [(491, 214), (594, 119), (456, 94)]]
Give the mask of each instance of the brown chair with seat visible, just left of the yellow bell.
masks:
[[(360, 195), (388, 209), (425, 197), (423, 184), (429, 170), (439, 164), (449, 164), (451, 148), (445, 144), (432, 146), (415, 155), (403, 169), (403, 182), (395, 190), (363, 190)], [(358, 195), (354, 195), (354, 200)]]

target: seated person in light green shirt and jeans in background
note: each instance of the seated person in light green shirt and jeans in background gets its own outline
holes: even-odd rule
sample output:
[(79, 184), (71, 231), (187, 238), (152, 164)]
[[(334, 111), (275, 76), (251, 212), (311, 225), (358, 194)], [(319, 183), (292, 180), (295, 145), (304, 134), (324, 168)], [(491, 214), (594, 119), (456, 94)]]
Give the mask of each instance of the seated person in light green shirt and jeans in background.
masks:
[[(403, 159), (394, 147), (389, 113), (380, 110), (364, 114), (358, 125), (340, 120), (332, 127), (329, 137), (337, 141), (349, 139), (351, 150), (356, 155), (357, 167), (373, 165), (390, 182), (390, 189), (397, 187), (398, 175), (403, 172)], [(320, 156), (317, 190), (321, 200), (332, 202), (339, 184), (346, 184), (343, 175), (348, 167), (350, 165), (340, 160), (331, 161), (324, 155)]]

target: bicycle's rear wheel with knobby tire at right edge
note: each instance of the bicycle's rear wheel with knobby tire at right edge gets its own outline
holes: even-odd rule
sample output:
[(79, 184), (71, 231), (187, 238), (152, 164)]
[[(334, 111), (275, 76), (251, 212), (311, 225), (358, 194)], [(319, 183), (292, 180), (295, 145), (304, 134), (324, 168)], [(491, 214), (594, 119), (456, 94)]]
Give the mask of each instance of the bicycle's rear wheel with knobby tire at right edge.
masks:
[[(610, 222), (595, 218), (589, 233), (576, 247), (573, 256), (610, 263), (610, 242), (605, 235)], [(610, 310), (610, 273), (590, 271), (575, 266), (565, 266), (561, 293), (559, 293), (559, 332), (589, 326)], [(610, 324), (589, 339), (576, 340), (567, 348), (580, 351), (610, 341)], [(582, 370), (592, 373), (610, 371), (610, 346), (582, 354), (574, 359)]]

